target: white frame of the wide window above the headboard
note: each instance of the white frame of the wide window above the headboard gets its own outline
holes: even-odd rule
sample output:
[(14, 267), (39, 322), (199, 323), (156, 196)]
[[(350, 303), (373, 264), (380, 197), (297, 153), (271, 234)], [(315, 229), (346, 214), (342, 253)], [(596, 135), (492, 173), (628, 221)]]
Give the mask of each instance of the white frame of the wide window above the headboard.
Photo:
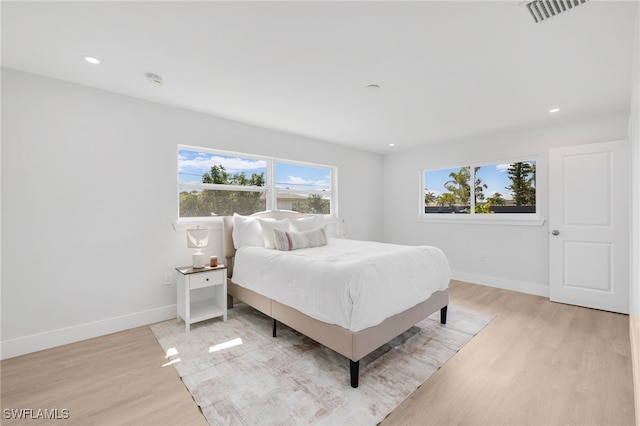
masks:
[[(265, 194), (265, 210), (276, 210), (278, 206), (279, 194), (320, 194), (323, 197), (328, 195), (329, 198), (329, 214), (323, 214), (325, 219), (336, 219), (338, 217), (338, 167), (328, 164), (311, 163), (305, 161), (289, 160), (279, 157), (268, 157), (263, 155), (255, 155), (238, 151), (227, 151), (221, 149), (205, 148), (193, 145), (178, 144), (176, 149), (176, 158), (180, 151), (203, 152), (213, 155), (234, 156), (250, 160), (264, 161), (266, 163), (265, 185), (264, 186), (242, 186), (242, 185), (224, 185), (211, 183), (193, 183), (181, 182), (179, 167), (176, 170), (177, 180), (177, 224), (195, 224), (195, 223), (216, 223), (222, 221), (222, 216), (192, 216), (180, 217), (180, 192), (181, 188), (189, 188), (196, 190), (218, 190), (218, 191), (247, 191), (247, 192), (263, 192)], [(296, 190), (283, 189), (276, 186), (275, 167), (276, 163), (284, 163), (290, 165), (298, 165), (304, 167), (315, 167), (327, 169), (330, 174), (329, 190)]]

